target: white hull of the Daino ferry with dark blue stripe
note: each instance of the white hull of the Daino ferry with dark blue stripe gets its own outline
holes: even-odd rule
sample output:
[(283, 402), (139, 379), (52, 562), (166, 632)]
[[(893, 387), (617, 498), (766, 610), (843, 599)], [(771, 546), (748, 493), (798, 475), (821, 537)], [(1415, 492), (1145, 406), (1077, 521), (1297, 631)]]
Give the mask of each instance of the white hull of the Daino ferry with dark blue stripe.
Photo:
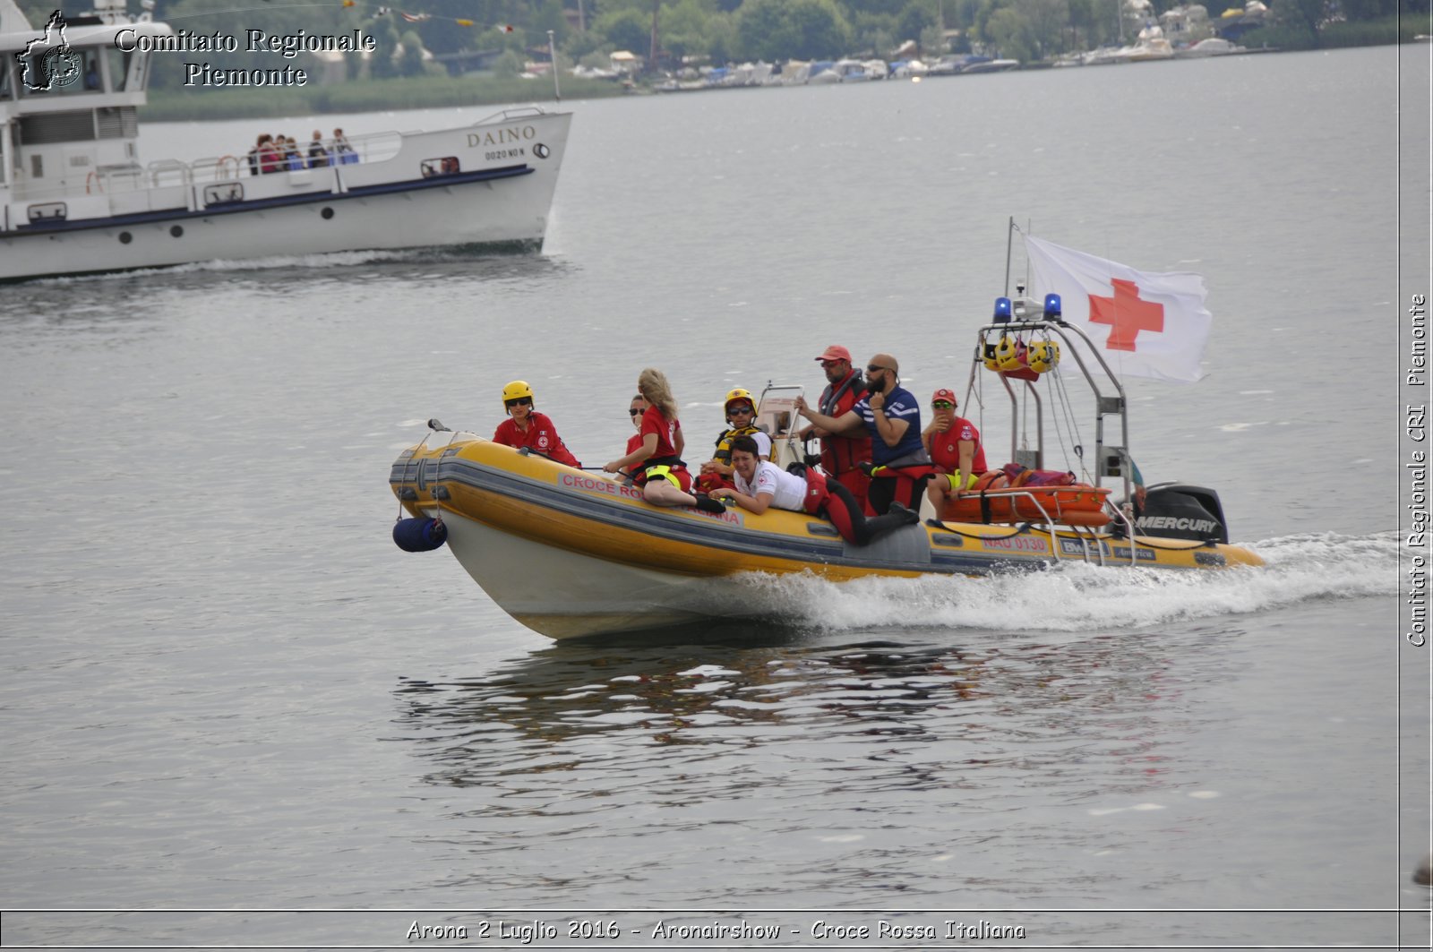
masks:
[[(63, 202), (67, 215), (0, 231), (0, 281), (341, 251), (536, 248), (570, 118), (540, 113), (394, 135), (391, 153), (368, 163), (258, 176), (245, 169), (139, 194), (39, 196)], [(449, 156), (457, 171), (424, 173), (426, 162), (431, 172), (433, 161)], [(242, 199), (225, 201), (235, 185)], [(23, 221), (21, 205), (11, 204), (10, 222)]]

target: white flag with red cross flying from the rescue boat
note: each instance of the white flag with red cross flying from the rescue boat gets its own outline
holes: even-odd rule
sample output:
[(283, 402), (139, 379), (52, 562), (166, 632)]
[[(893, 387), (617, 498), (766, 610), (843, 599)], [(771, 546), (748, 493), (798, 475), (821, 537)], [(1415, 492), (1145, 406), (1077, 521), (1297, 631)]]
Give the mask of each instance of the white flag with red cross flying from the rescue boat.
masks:
[(1030, 291), (1059, 294), (1065, 320), (1079, 327), (1115, 373), (1194, 383), (1214, 320), (1204, 307), (1204, 277), (1191, 271), (1135, 271), (1040, 238), (1025, 237)]

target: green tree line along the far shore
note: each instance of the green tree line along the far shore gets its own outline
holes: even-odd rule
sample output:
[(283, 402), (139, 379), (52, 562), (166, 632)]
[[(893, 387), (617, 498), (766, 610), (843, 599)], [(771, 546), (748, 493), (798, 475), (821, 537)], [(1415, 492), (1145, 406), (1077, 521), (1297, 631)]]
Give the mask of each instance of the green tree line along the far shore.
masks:
[[(1410, 39), (1424, 24), (1430, 0), (1265, 0), (1268, 26), (1241, 42), (1285, 49)], [(49, 19), (54, 0), (20, 0), (32, 23)], [(390, 79), (443, 75), (433, 56), (487, 52), (499, 72), (513, 73), (527, 60), (545, 60), (547, 34), (556, 39), (559, 65), (606, 65), (615, 50), (631, 50), (649, 67), (744, 60), (891, 59), (907, 42), (926, 59), (953, 52), (1036, 62), (1066, 52), (1095, 49), (1131, 37), (1142, 23), (1123, 0), (355, 0), (353, 6), (311, 6), (271, 0), (255, 9), (234, 0), (175, 0), (156, 16), (192, 33), (242, 39), (246, 29), (268, 33), (331, 34), (361, 29), (377, 42), (367, 60), (350, 56), (350, 77)], [(1154, 16), (1176, 0), (1152, 0)], [(1211, 0), (1217, 20), (1222, 6)], [(403, 14), (408, 14), (404, 17)], [(1394, 23), (1403, 14), (1406, 36)], [(652, 63), (652, 56), (656, 62)], [(252, 67), (254, 54), (160, 54), (155, 89), (182, 85), (183, 62), (202, 56), (215, 67)], [(301, 60), (310, 54), (301, 54)], [(299, 63), (302, 65), (302, 63)], [(321, 75), (317, 63), (305, 66)]]

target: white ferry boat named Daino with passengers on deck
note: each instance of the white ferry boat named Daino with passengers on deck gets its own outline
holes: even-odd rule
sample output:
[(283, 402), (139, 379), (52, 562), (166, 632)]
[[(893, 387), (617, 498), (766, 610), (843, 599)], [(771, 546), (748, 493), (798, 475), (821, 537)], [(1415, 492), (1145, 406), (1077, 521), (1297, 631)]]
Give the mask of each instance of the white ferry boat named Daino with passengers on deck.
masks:
[[(0, 0), (0, 281), (434, 245), (540, 247), (570, 113), (140, 162), (155, 39), (123, 0), (33, 27)], [(152, 6), (152, 3), (146, 3)], [(149, 37), (150, 42), (145, 42)], [(255, 95), (262, 95), (254, 90)]]

